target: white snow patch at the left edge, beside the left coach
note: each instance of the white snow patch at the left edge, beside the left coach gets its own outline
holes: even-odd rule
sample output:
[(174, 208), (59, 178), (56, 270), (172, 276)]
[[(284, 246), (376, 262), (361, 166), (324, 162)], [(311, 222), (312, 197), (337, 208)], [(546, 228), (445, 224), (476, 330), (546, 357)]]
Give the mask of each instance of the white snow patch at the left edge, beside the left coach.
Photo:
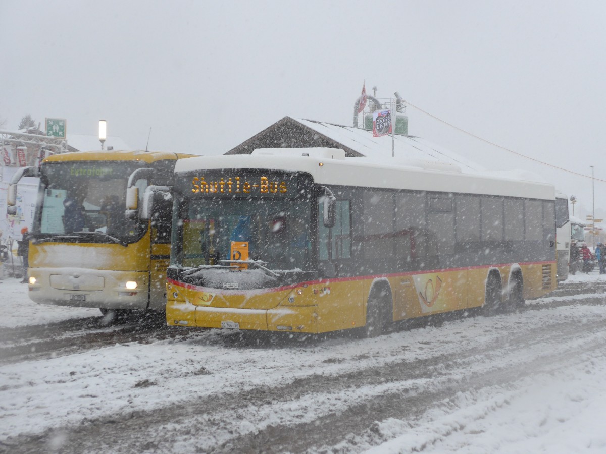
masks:
[(67, 308), (34, 303), (27, 296), (27, 284), (21, 279), (0, 279), (0, 328), (54, 323), (73, 318), (101, 315), (95, 308)]

